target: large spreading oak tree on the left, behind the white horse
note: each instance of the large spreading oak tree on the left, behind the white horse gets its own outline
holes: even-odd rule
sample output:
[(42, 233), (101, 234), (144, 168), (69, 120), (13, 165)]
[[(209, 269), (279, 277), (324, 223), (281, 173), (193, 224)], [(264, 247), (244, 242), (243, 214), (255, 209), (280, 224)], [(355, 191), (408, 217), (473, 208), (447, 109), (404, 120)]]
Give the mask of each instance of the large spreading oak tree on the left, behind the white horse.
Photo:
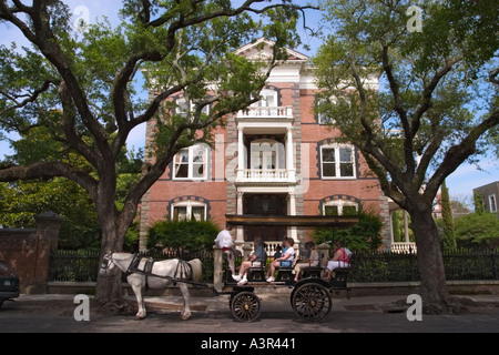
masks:
[[(58, 144), (50, 154), (40, 146), (29, 164), (1, 162), (0, 181), (74, 181), (95, 205), (101, 254), (121, 250), (142, 195), (179, 150), (207, 141), (226, 114), (258, 100), (283, 47), (297, 45), (295, 27), (307, 8), (289, 0), (124, 0), (119, 26), (104, 20), (77, 32), (63, 1), (1, 0), (0, 21), (31, 47), (0, 48), (0, 128), (26, 134), (43, 125)], [(272, 59), (234, 54), (262, 36), (276, 43)], [(141, 71), (146, 88), (134, 84)], [(143, 90), (154, 93), (149, 101)], [(173, 95), (186, 98), (193, 110), (164, 115), (174, 109)], [(119, 209), (116, 159), (131, 131), (151, 120), (157, 121), (153, 163)], [(120, 277), (99, 277), (95, 296), (119, 304)]]

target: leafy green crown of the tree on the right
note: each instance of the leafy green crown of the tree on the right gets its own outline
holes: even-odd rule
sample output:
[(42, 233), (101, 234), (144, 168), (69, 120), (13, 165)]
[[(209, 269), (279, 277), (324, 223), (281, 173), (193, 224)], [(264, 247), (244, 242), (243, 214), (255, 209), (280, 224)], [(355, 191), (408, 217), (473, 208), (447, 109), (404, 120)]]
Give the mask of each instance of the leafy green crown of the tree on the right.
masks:
[[(414, 193), (427, 182), (434, 196), (497, 125), (497, 92), (487, 80), (499, 48), (486, 33), (499, 29), (492, 2), (323, 1), (335, 33), (314, 59), (329, 100), (318, 111), (335, 119), (400, 204), (399, 189)], [(409, 6), (421, 32), (410, 30)]]

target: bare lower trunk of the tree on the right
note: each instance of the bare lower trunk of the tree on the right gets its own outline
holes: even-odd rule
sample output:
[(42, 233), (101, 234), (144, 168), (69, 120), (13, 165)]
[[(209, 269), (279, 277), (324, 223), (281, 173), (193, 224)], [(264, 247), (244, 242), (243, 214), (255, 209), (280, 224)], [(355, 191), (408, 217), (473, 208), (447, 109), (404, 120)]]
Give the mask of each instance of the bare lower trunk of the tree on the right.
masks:
[(424, 313), (449, 313), (451, 312), (450, 294), (447, 290), (440, 241), (437, 225), (431, 216), (431, 209), (409, 213), (418, 250)]

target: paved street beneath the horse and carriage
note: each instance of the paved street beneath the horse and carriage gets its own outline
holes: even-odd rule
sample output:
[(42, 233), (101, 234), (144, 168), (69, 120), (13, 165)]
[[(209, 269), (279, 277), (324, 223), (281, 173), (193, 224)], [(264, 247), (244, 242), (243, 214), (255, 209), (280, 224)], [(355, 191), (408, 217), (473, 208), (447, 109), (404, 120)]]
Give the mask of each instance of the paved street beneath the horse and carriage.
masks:
[[(409, 322), (408, 305), (396, 301), (404, 296), (333, 298), (333, 310), (319, 323), (298, 321), (287, 294), (263, 294), (261, 320), (255, 323), (234, 322), (228, 296), (193, 297), (193, 316), (179, 318), (182, 298), (149, 297), (149, 316), (133, 321), (134, 312), (106, 315), (91, 302), (90, 321), (77, 322), (73, 312), (79, 304), (72, 295), (21, 295), (6, 302), (0, 311), (0, 333), (418, 333), (418, 332), (499, 332), (499, 296), (472, 296), (477, 305), (471, 313), (459, 316), (422, 315)], [(135, 305), (133, 298), (131, 304)], [(404, 302), (403, 302), (404, 303)]]

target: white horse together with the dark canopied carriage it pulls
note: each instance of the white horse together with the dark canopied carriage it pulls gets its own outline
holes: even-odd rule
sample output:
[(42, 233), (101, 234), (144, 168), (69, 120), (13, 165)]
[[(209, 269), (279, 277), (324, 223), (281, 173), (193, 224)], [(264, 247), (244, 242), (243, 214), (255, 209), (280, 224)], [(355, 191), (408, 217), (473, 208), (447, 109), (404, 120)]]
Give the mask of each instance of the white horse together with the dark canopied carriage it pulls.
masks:
[[(227, 223), (233, 225), (272, 225), (272, 226), (324, 226), (324, 227), (349, 227), (358, 222), (357, 216), (244, 216), (226, 215)], [(181, 260), (166, 260), (153, 262), (143, 257), (138, 257), (129, 253), (109, 253), (104, 256), (101, 266), (101, 275), (105, 275), (113, 267), (120, 268), (128, 276), (129, 284), (135, 293), (139, 312), (136, 320), (142, 320), (146, 315), (143, 298), (145, 286), (150, 288), (164, 288), (172, 283), (179, 283), (184, 297), (184, 308), (181, 314), (182, 320), (191, 316), (190, 294), (187, 285), (213, 287), (215, 295), (230, 295), (230, 308), (237, 322), (254, 322), (261, 315), (261, 300), (255, 290), (266, 285), (263, 280), (262, 270), (251, 270), (255, 277), (247, 285), (231, 285), (227, 270), (224, 272), (226, 291), (216, 291), (216, 287), (205, 283), (200, 283), (201, 262), (193, 260), (183, 262)], [(228, 271), (230, 272), (230, 271)], [(332, 292), (336, 290), (347, 290), (347, 276), (349, 268), (336, 268), (335, 276), (330, 281), (320, 278), (320, 267), (305, 270), (305, 277), (296, 284), (292, 283), (289, 267), (281, 267), (274, 287), (291, 287), (291, 306), (299, 318), (308, 322), (318, 322), (325, 318), (333, 306)]]

